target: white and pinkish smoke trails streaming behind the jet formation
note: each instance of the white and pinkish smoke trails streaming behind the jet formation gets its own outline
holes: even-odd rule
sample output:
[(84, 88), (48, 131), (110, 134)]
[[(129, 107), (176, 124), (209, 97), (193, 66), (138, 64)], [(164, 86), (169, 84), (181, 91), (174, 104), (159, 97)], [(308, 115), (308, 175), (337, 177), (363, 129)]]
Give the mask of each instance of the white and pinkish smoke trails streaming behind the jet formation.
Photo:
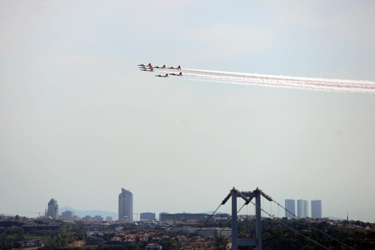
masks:
[[(158, 70), (159, 71), (159, 70)], [(181, 71), (197, 72), (186, 73), (184, 76), (206, 79), (210, 82), (221, 82), (231, 84), (242, 84), (252, 86), (269, 86), (276, 88), (297, 88), (297, 89), (314, 89), (320, 91), (334, 91), (334, 92), (362, 92), (375, 93), (375, 82), (371, 81), (356, 81), (356, 80), (341, 80), (341, 79), (323, 79), (323, 78), (308, 78), (308, 77), (291, 77), (291, 76), (272, 76), (250, 73), (236, 73), (225, 71), (210, 71), (210, 70), (193, 70), (181, 69)], [(160, 70), (159, 72), (171, 73), (171, 71)]]

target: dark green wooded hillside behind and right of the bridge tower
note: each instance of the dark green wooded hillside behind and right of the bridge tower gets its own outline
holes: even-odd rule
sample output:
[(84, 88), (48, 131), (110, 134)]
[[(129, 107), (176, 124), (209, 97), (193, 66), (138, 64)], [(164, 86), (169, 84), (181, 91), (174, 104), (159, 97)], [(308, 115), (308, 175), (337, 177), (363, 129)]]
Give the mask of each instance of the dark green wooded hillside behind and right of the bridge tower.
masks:
[[(366, 232), (363, 229), (349, 229), (348, 238), (348, 229), (346, 226), (336, 226), (327, 222), (311, 224), (330, 237), (338, 240), (336, 241), (302, 221), (283, 220), (282, 222), (298, 233), (275, 220), (263, 219), (262, 247), (264, 250), (324, 249), (321, 246), (334, 250), (345, 249), (345, 246), (338, 241), (355, 249), (375, 250), (375, 232)], [(255, 237), (255, 221), (239, 222), (238, 229), (239, 238)], [(248, 248), (239, 247), (239, 249), (244, 250)]]

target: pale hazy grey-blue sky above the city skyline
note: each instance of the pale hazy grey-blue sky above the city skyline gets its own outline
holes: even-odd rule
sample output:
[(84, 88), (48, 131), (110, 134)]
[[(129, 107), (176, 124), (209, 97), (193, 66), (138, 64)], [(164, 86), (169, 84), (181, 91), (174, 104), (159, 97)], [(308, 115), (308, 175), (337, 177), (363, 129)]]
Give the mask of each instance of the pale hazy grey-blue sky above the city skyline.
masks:
[(117, 212), (121, 187), (134, 213), (198, 213), (234, 186), (374, 222), (375, 95), (136, 66), (374, 81), (374, 13), (374, 1), (0, 1), (0, 213), (34, 216), (51, 198)]

